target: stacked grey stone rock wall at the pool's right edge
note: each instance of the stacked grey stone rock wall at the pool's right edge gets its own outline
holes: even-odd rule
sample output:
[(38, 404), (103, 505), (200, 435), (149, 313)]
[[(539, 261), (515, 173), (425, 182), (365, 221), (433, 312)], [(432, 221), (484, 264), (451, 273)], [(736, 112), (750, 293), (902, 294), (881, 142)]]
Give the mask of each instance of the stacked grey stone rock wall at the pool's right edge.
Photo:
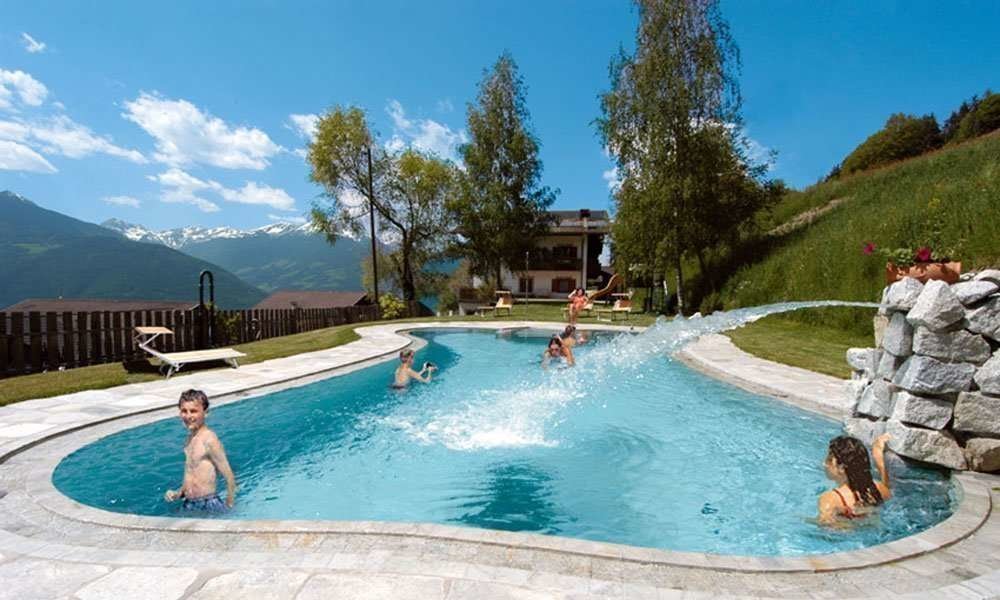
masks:
[[(851, 348), (847, 433), (900, 456), (1000, 470), (1000, 270), (885, 288), (876, 348)], [(877, 329), (879, 329), (877, 327)]]

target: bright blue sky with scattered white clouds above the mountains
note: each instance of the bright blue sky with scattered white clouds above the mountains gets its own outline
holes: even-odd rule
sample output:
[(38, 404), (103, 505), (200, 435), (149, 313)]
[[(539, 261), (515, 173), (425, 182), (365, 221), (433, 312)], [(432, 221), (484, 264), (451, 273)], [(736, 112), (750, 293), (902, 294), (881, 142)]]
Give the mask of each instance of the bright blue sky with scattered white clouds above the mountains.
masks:
[[(1000, 89), (1000, 2), (725, 1), (747, 132), (808, 185), (894, 112), (943, 120)], [(527, 85), (557, 208), (606, 208), (592, 121), (630, 46), (625, 2), (0, 4), (0, 189), (156, 229), (301, 218), (319, 190), (308, 115), (368, 111), (443, 154), (505, 49)]]

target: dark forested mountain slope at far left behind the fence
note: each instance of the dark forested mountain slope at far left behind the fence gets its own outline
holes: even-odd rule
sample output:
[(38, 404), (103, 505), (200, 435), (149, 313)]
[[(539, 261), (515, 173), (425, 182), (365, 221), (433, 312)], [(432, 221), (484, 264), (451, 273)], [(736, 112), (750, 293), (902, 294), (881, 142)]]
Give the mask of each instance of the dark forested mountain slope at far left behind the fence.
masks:
[(194, 303), (203, 269), (215, 275), (223, 307), (253, 306), (265, 295), (216, 264), (0, 192), (0, 306), (59, 296)]

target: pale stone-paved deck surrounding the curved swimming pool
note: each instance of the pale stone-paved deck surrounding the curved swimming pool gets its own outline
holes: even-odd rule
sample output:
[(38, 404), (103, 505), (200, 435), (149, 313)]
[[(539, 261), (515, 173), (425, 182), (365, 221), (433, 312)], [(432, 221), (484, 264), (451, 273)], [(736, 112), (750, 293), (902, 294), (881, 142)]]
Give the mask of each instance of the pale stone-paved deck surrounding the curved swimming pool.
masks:
[[(1000, 517), (992, 510), (1000, 478), (995, 476), (959, 475), (964, 499), (958, 511), (922, 534), (856, 552), (800, 558), (666, 552), (432, 524), (138, 517), (79, 505), (52, 486), (52, 469), (74, 449), (114, 431), (175, 418), (176, 398), (184, 389), (204, 389), (217, 403), (236, 402), (390, 359), (413, 341), (400, 331), (442, 326), (560, 327), (373, 325), (360, 328), (361, 339), (351, 344), (236, 371), (0, 408), (0, 598), (1000, 596)], [(810, 410), (830, 415), (837, 409), (821, 406), (827, 392), (809, 395), (810, 389), (842, 385), (836, 380), (760, 361), (724, 339), (703, 338), (680, 358)]]

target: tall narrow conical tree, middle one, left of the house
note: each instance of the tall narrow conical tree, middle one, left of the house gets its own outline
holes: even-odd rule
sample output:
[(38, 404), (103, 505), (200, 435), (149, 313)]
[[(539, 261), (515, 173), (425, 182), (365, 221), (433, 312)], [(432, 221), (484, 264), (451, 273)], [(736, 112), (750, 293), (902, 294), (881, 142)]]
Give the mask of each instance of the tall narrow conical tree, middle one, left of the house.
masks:
[(500, 287), (502, 268), (518, 270), (524, 253), (547, 232), (546, 209), (555, 199), (555, 192), (540, 185), (538, 141), (524, 82), (509, 54), (484, 73), (477, 103), (467, 114), (470, 139), (459, 149), (465, 172), (450, 203), (459, 233), (453, 251)]

